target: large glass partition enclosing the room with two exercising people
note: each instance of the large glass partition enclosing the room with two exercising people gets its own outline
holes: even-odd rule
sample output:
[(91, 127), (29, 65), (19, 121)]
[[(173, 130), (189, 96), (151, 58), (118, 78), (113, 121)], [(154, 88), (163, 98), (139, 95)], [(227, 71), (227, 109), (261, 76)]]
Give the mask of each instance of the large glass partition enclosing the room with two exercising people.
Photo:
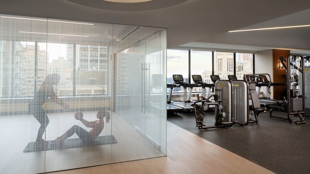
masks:
[(0, 15), (0, 173), (166, 156), (166, 29)]

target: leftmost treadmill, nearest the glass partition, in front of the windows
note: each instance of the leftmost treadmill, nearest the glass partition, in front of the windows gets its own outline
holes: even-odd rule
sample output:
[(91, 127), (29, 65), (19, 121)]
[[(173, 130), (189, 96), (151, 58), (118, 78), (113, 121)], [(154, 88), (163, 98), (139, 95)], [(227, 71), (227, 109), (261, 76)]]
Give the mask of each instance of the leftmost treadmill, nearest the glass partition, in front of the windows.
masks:
[[(193, 102), (190, 101), (191, 92), (193, 87), (201, 87), (200, 84), (188, 84), (184, 82), (183, 75), (181, 74), (173, 74), (173, 81), (176, 85), (183, 87), (183, 101), (171, 101), (171, 98), (168, 99), (168, 103), (172, 106), (182, 108), (182, 111), (184, 112), (193, 112), (194, 107), (191, 106)], [(187, 93), (187, 87), (189, 88), (189, 91)]]

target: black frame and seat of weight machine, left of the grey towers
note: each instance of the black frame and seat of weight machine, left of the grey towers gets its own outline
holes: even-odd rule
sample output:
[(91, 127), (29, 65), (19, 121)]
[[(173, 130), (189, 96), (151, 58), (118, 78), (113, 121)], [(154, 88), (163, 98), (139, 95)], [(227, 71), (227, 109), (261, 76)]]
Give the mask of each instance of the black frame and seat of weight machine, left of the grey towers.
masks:
[[(215, 102), (211, 102), (209, 99), (213, 97)], [(204, 117), (204, 110), (203, 108), (209, 105), (214, 105), (214, 115), (215, 115), (215, 123), (214, 125), (206, 125), (203, 121)], [(199, 129), (209, 129), (209, 128), (218, 128), (218, 127), (232, 127), (233, 122), (225, 122), (224, 118), (226, 117), (226, 113), (223, 112), (222, 101), (218, 100), (218, 95), (211, 95), (209, 98), (202, 97), (202, 100), (196, 101), (192, 104), (195, 111), (195, 118), (196, 118), (196, 127)]]

